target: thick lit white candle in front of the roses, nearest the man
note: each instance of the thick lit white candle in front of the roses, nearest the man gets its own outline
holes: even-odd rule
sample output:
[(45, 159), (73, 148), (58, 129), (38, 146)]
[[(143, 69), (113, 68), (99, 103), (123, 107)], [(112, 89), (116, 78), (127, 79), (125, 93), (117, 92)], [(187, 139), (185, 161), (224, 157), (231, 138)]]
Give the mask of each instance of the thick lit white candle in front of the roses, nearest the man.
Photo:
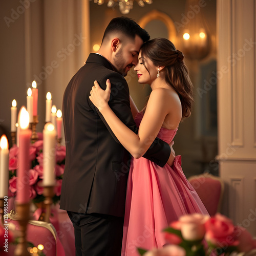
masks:
[(52, 123), (47, 123), (42, 132), (43, 136), (43, 182), (44, 186), (53, 186), (55, 185), (55, 144), (56, 144), (56, 130)]

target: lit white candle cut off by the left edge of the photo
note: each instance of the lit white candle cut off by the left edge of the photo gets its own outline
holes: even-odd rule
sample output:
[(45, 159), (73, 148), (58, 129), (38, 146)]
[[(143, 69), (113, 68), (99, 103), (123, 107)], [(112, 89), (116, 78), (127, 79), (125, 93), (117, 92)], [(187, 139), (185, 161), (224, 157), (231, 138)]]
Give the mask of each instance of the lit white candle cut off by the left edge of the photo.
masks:
[(4, 198), (9, 187), (9, 149), (5, 135), (1, 137), (0, 148), (0, 198)]

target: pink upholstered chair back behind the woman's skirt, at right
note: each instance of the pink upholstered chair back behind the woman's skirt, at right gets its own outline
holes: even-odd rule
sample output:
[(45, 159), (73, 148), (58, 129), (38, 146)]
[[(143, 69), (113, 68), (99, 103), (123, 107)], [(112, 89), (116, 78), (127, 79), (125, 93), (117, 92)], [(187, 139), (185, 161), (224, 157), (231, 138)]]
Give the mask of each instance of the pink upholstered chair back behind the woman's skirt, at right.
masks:
[(220, 177), (206, 173), (189, 177), (188, 181), (195, 188), (210, 216), (220, 211), (224, 191), (224, 182)]

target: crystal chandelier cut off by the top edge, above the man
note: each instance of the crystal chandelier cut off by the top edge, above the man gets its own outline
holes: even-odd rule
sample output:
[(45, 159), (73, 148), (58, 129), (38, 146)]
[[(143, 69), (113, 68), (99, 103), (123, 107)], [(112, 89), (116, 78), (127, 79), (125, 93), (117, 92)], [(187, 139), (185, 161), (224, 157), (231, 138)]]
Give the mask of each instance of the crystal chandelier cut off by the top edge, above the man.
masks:
[(133, 9), (134, 2), (137, 2), (140, 7), (143, 7), (145, 3), (148, 5), (152, 4), (153, 0), (94, 0), (93, 2), (98, 5), (106, 3), (110, 8), (119, 6), (119, 10), (122, 14), (128, 14), (130, 10)]

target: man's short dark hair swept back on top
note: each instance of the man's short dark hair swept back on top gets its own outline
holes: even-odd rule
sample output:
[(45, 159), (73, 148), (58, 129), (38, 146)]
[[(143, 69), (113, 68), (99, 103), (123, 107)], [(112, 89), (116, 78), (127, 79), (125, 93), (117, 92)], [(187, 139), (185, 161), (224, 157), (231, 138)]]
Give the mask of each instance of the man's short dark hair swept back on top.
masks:
[(146, 32), (146, 30), (142, 29), (133, 19), (128, 17), (116, 17), (113, 18), (108, 27), (106, 27), (102, 42), (106, 36), (113, 32), (122, 32), (124, 35), (135, 38), (138, 35), (143, 42), (150, 39), (150, 35)]

